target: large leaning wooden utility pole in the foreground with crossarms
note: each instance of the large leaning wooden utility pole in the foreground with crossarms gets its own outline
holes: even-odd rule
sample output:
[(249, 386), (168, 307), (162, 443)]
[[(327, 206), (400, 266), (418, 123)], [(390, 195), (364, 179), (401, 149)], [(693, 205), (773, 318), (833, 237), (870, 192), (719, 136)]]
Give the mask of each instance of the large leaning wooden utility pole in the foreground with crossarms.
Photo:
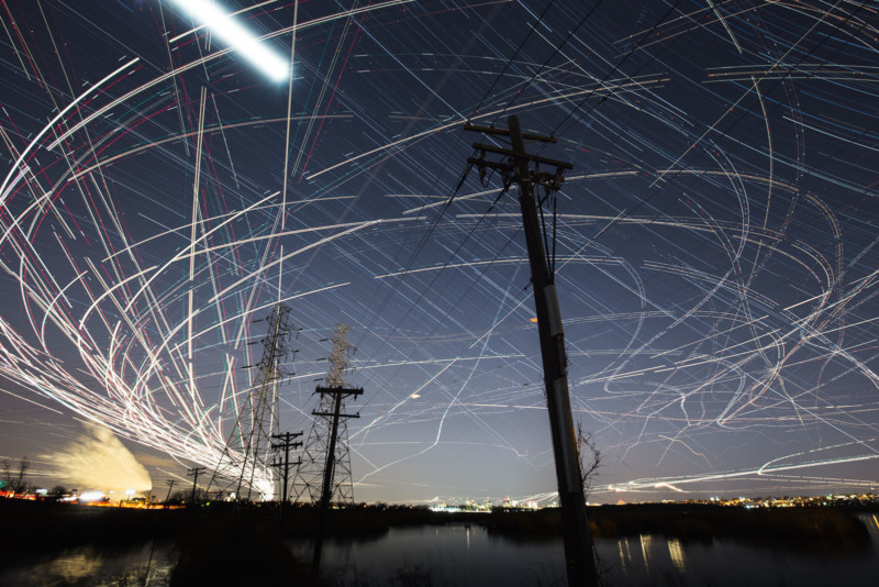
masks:
[[(592, 555), (589, 522), (586, 519), (586, 497), (583, 496), (577, 439), (570, 411), (565, 332), (561, 328), (561, 314), (558, 309), (554, 267), (547, 259), (534, 196), (535, 186), (543, 186), (550, 192), (557, 191), (561, 186), (563, 170), (572, 169), (574, 166), (525, 152), (525, 140), (555, 143), (554, 136), (522, 133), (519, 118), (515, 115), (509, 117), (507, 124), (508, 129), (504, 130), (467, 123), (464, 128), (467, 131), (508, 137), (511, 144), (511, 148), (500, 148), (475, 143), (474, 148), (479, 156), (469, 157), (467, 163), (470, 166), (477, 166), (480, 177), (485, 177), (486, 169), (492, 169), (500, 171), (504, 187), (509, 187), (513, 181), (519, 185), (519, 203), (522, 209), (522, 225), (531, 263), (531, 283), (537, 312), (546, 406), (549, 412), (558, 498), (561, 505), (561, 530), (565, 540), (568, 585), (592, 587), (598, 585), (598, 573)], [(486, 153), (502, 155), (504, 160), (486, 160)], [(531, 169), (532, 163), (535, 164), (535, 170)], [(555, 175), (542, 173), (541, 165), (555, 167)]]

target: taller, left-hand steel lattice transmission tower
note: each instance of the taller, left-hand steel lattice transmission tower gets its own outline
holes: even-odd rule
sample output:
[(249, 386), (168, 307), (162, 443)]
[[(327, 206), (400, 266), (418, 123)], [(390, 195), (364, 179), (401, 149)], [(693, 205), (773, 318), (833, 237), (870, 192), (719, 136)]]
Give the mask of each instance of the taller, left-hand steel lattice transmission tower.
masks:
[(263, 357), (256, 365), (244, 367), (257, 368), (257, 375), (211, 479), (213, 483), (218, 476), (233, 478), (235, 495), (241, 499), (246, 487), (247, 500), (254, 490), (264, 500), (271, 499), (275, 492), (271, 436), (278, 434), (278, 388), (293, 375), (285, 365), (296, 355), (290, 343), (299, 332), (290, 323), (290, 307), (285, 303), (277, 304), (266, 322), (268, 332), (260, 341)]

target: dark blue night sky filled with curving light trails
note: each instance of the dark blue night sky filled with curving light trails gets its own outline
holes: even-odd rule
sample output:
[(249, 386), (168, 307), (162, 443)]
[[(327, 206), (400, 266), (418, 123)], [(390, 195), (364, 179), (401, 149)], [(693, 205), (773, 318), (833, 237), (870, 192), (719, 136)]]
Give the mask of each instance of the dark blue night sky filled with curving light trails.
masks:
[(285, 301), (282, 431), (352, 326), (355, 499), (554, 499), (515, 188), (452, 198), (465, 121), (516, 114), (574, 165), (590, 500), (879, 485), (875, 3), (222, 5), (291, 79), (171, 2), (0, 2), (1, 456), (69, 485), (92, 421), (163, 496), (215, 468)]

